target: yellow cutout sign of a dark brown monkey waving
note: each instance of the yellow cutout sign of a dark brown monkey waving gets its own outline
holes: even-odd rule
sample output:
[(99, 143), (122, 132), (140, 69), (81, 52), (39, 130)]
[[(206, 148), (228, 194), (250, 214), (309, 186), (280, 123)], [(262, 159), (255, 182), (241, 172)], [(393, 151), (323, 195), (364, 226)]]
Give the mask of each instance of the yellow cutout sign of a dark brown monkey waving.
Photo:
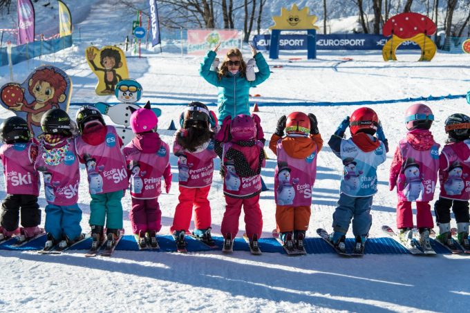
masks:
[(93, 73), (98, 77), (95, 92), (97, 95), (111, 95), (122, 79), (129, 77), (126, 56), (115, 46), (86, 48), (86, 60)]

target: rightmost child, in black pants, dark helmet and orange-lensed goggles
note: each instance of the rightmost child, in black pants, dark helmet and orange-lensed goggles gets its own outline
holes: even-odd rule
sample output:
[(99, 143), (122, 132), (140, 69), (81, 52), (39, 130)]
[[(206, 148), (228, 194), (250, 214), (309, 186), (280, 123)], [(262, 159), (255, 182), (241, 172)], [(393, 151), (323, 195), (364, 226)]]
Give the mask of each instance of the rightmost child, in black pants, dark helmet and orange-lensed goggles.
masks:
[(458, 243), (469, 245), (470, 200), (470, 117), (456, 113), (445, 122), (448, 134), (439, 156), (439, 200), (434, 204), (435, 220), (439, 225), (437, 239), (452, 245), (451, 207), (457, 222)]

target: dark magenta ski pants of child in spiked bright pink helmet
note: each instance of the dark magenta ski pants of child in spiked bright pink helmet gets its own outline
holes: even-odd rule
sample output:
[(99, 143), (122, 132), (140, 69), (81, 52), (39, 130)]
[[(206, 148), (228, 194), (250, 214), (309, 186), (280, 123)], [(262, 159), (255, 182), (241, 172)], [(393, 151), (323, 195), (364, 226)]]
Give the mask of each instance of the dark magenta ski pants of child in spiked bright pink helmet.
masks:
[(132, 231), (160, 231), (162, 228), (162, 211), (158, 204), (158, 198), (135, 199), (132, 198), (132, 209), (129, 213)]

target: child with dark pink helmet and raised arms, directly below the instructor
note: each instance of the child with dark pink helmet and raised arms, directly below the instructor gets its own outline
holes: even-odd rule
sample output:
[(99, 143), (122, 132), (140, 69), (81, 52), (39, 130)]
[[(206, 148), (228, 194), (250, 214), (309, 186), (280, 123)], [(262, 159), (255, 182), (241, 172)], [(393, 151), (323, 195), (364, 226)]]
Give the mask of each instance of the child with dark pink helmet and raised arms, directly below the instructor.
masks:
[[(259, 250), (258, 239), (263, 229), (259, 207), (261, 167), (265, 165), (264, 137), (258, 115), (236, 115), (232, 121), (225, 117), (216, 135), (215, 151), (223, 168), (225, 213), (220, 225), (224, 237), (224, 251), (231, 251), (238, 233), (238, 218), (245, 211), (246, 234), (253, 251)], [(229, 140), (229, 137), (232, 137)]]

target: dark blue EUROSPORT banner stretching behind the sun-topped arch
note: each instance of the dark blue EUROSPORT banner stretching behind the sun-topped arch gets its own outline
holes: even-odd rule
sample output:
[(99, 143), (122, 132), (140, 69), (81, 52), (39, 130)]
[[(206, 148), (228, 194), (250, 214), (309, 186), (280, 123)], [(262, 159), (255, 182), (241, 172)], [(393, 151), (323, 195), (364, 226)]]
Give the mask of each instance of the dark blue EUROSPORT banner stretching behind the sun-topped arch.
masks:
[[(253, 45), (257, 50), (270, 49), (271, 35), (255, 35)], [(317, 35), (317, 50), (382, 50), (388, 37), (372, 34)], [(400, 49), (420, 49), (417, 44), (405, 41)], [(281, 35), (279, 50), (307, 50), (307, 34)]]

